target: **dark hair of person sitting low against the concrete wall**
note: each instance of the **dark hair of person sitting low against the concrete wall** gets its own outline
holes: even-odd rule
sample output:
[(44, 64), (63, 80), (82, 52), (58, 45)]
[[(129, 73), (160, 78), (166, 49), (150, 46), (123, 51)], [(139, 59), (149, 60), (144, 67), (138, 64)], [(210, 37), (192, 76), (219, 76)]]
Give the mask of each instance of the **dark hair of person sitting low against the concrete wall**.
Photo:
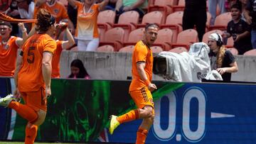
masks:
[[(79, 68), (79, 73), (77, 75), (77, 78), (85, 78), (86, 76), (89, 76), (90, 75), (87, 73), (87, 71), (85, 70), (85, 67), (82, 63), (81, 60), (79, 59), (76, 59), (76, 60), (73, 60), (70, 64), (70, 67), (78, 67)], [(74, 74), (71, 73), (68, 78), (73, 78), (74, 77)]]

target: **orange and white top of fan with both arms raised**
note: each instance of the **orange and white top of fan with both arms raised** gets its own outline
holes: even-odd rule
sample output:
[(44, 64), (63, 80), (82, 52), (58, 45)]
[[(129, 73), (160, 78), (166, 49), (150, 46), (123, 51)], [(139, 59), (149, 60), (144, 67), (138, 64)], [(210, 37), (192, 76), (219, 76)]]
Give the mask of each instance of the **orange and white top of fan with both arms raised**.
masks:
[(100, 12), (99, 5), (93, 4), (89, 11), (85, 11), (83, 3), (75, 1), (75, 4), (78, 6), (78, 24), (75, 29), (75, 37), (80, 40), (99, 38), (97, 31), (97, 16)]

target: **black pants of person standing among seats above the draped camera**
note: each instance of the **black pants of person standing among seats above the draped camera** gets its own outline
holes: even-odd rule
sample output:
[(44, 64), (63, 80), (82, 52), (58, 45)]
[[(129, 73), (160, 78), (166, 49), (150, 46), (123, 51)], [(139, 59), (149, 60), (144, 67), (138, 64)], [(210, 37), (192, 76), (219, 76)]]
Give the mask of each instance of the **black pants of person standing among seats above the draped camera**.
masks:
[(206, 11), (184, 11), (182, 19), (183, 31), (194, 28), (196, 25), (196, 31), (198, 32), (198, 39), (202, 41), (203, 34), (206, 33)]

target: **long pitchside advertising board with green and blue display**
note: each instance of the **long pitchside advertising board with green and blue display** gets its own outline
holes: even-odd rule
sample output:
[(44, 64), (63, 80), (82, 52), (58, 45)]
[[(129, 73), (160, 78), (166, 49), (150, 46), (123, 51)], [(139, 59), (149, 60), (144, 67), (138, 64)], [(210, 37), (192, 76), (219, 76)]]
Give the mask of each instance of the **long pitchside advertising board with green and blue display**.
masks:
[[(14, 89), (13, 80), (0, 78)], [(37, 141), (134, 143), (141, 121), (107, 133), (109, 116), (134, 109), (129, 81), (53, 79)], [(154, 126), (146, 143), (256, 143), (256, 85), (154, 82)], [(2, 87), (2, 86), (1, 86)], [(6, 89), (0, 89), (6, 94)], [(1, 95), (1, 96), (2, 96)], [(5, 109), (6, 110), (6, 109)], [(0, 113), (0, 115), (2, 112)], [(0, 140), (23, 140), (26, 121), (1, 115)]]

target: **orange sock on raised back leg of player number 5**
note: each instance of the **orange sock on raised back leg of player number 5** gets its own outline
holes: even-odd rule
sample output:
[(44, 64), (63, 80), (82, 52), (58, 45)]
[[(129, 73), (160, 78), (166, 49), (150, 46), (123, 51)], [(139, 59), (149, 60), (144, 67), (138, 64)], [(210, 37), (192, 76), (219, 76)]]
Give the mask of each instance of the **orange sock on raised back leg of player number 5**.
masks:
[(36, 111), (31, 109), (31, 107), (29, 106), (18, 103), (17, 101), (11, 101), (8, 107), (14, 109), (18, 113), (18, 115), (20, 115), (22, 118), (25, 118), (31, 123), (33, 123), (33, 121), (36, 121), (36, 119), (38, 118), (38, 114), (36, 113)]

